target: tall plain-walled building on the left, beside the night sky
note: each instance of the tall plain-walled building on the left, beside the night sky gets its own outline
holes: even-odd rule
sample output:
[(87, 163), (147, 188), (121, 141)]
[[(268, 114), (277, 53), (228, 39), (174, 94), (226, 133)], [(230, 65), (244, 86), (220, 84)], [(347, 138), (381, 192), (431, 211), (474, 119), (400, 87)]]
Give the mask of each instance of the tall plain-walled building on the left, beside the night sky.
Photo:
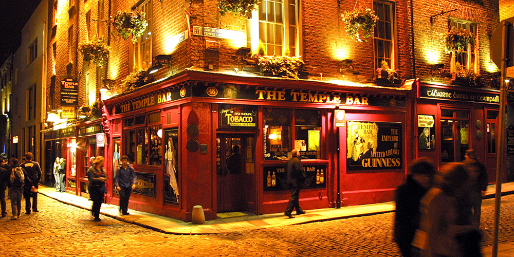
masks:
[[(43, 0), (22, 29), (21, 45), (14, 54), (12, 83), (12, 152), (22, 158), (26, 152), (45, 167), (42, 151), (42, 130), (45, 129), (46, 111), (46, 36), (48, 1)], [(50, 163), (53, 163), (51, 161)], [(44, 169), (43, 182), (53, 183), (51, 169)], [(50, 174), (50, 175), (49, 175)]]

